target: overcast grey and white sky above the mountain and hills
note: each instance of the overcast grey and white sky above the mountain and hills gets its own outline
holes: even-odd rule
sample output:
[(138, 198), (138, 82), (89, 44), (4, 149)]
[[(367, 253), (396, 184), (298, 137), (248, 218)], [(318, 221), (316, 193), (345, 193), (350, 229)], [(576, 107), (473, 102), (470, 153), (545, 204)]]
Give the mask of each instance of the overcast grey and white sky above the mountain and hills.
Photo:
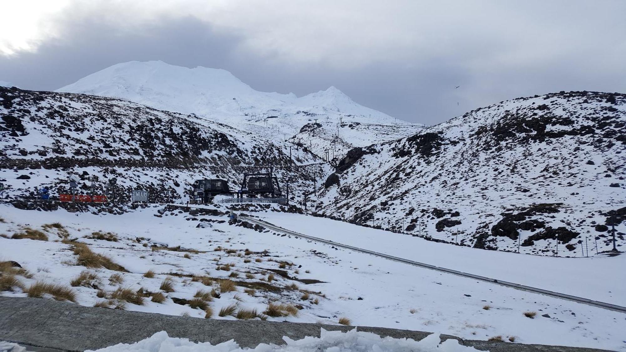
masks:
[(626, 92), (625, 14), (623, 0), (3, 0), (0, 81), (54, 90), (162, 60), (260, 91), (334, 85), (433, 125), (519, 96)]

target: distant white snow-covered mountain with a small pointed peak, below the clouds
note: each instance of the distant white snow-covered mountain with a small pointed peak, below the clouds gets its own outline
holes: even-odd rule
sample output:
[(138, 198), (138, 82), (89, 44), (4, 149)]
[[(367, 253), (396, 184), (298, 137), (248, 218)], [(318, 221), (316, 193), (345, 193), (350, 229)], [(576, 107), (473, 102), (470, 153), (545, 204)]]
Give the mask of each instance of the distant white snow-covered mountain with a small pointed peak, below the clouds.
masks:
[[(58, 91), (113, 96), (161, 110), (193, 113), (270, 140), (300, 143), (317, 155), (324, 155), (333, 141), (343, 154), (352, 147), (395, 140), (423, 128), (359, 105), (333, 86), (301, 97), (265, 93), (225, 70), (190, 69), (162, 61), (113, 65)], [(320, 124), (317, 133), (301, 133), (304, 125), (316, 121)]]

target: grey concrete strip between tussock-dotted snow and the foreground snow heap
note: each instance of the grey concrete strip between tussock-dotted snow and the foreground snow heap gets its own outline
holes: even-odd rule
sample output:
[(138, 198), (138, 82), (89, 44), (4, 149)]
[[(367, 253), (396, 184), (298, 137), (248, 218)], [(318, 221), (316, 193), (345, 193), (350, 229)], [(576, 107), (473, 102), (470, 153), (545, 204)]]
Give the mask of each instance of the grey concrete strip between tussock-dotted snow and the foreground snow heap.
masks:
[[(167, 331), (172, 337), (192, 341), (221, 343), (235, 339), (242, 347), (259, 343), (284, 344), (282, 336), (302, 339), (319, 336), (320, 328), (347, 331), (350, 326), (277, 323), (271, 321), (232, 321), (186, 318), (155, 313), (121, 311), (106, 308), (83, 307), (78, 304), (51, 299), (0, 297), (0, 340), (37, 346), (39, 351), (84, 351), (117, 343), (133, 343), (150, 337), (158, 331)], [(423, 339), (430, 333), (387, 328), (359, 326), (393, 338)], [(458, 339), (461, 344), (491, 352), (597, 352), (600, 349), (543, 346), (537, 344), (494, 343), (463, 340), (441, 335), (442, 339)], [(34, 349), (30, 349), (33, 351)]]

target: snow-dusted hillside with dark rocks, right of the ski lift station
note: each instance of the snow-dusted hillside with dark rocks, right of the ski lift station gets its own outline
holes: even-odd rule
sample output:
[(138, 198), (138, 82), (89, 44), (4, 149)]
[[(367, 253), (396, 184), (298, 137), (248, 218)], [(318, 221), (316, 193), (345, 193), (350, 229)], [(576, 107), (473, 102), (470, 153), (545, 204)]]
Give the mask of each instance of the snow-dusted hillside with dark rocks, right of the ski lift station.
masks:
[(504, 101), (354, 148), (319, 212), (485, 249), (582, 256), (626, 232), (626, 95)]

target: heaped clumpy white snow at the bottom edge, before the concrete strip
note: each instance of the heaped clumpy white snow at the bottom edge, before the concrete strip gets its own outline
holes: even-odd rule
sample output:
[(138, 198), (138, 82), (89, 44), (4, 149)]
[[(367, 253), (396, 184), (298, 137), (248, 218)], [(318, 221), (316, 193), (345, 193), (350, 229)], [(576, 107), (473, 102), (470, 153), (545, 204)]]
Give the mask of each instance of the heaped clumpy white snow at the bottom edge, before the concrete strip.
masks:
[(240, 348), (234, 340), (226, 341), (213, 346), (208, 342), (193, 343), (186, 338), (170, 338), (165, 331), (153, 334), (150, 338), (137, 343), (120, 343), (115, 346), (98, 349), (100, 352), (351, 352), (351, 351), (414, 351), (414, 352), (461, 352), (477, 351), (473, 347), (461, 346), (455, 339), (448, 339), (439, 343), (439, 334), (430, 334), (421, 341), (413, 339), (381, 338), (377, 334), (357, 331), (356, 329), (342, 333), (341, 331), (321, 330), (321, 337), (307, 336), (303, 339), (292, 340), (283, 336), (284, 345), (259, 344), (256, 348)]

